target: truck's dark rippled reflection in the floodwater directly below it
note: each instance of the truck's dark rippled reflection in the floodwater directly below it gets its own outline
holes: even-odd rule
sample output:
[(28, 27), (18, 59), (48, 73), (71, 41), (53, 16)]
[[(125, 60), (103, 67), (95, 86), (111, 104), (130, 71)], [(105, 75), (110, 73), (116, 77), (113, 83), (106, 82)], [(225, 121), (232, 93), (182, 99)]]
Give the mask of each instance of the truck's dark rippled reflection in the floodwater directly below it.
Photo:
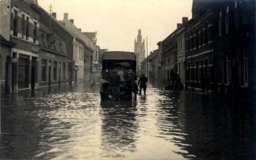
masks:
[(101, 101), (102, 157), (125, 157), (125, 152), (136, 152), (138, 122), (136, 102)]

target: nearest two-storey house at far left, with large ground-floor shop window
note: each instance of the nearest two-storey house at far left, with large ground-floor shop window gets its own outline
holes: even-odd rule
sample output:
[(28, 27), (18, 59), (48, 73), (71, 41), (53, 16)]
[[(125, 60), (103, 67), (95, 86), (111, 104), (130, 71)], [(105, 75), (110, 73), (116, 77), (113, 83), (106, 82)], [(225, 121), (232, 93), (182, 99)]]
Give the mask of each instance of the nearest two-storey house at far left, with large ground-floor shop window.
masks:
[[(4, 88), (6, 93), (38, 89), (38, 22), (37, 1), (6, 1), (1, 5), (1, 35), (12, 45), (5, 50)], [(2, 54), (2, 53), (1, 53)], [(3, 69), (2, 69), (3, 70)]]

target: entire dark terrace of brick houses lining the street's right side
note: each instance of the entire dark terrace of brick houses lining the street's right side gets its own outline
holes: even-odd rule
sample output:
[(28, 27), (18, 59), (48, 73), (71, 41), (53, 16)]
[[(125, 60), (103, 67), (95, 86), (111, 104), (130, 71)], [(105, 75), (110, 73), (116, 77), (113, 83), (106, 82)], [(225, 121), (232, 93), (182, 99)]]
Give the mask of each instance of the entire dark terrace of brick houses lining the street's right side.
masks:
[(157, 43), (161, 84), (173, 70), (187, 87), (200, 89), (202, 76), (209, 76), (212, 91), (255, 93), (255, 8), (253, 0), (193, 0), (191, 20), (183, 17)]

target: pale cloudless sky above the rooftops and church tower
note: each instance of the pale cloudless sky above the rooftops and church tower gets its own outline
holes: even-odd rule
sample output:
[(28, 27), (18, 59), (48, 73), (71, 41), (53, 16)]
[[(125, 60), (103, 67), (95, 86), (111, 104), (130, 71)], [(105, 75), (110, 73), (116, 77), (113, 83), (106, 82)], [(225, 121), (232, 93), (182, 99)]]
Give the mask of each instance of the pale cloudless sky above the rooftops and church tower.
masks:
[(157, 49), (182, 22), (191, 18), (192, 0), (38, 0), (38, 4), (63, 19), (68, 13), (83, 32), (97, 31), (97, 45), (108, 50), (134, 52), (134, 39), (148, 39), (148, 54)]

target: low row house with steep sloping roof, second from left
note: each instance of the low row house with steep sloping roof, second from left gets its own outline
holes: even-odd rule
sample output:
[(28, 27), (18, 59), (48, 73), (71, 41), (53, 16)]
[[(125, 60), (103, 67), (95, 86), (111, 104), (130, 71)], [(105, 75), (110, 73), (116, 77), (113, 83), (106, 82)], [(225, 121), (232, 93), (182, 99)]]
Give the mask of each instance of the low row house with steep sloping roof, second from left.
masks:
[(67, 84), (68, 55), (64, 40), (42, 23), (40, 23), (38, 39), (40, 87)]

